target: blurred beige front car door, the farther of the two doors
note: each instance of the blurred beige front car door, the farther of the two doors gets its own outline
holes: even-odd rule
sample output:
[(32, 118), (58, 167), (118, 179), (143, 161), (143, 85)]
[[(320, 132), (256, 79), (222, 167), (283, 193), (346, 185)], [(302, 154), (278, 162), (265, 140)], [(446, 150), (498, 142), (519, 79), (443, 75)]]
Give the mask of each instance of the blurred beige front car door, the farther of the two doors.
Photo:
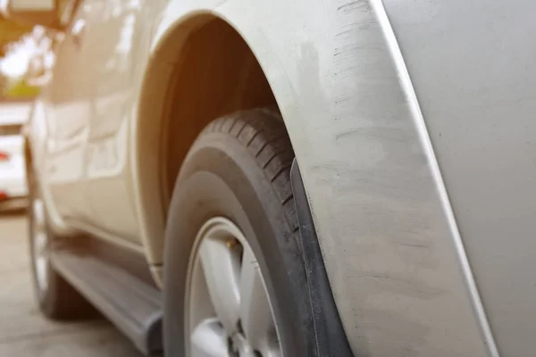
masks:
[(90, 57), (81, 38), (91, 12), (88, 1), (72, 1), (67, 29), (55, 37), (52, 80), (43, 88), (46, 104), (47, 187), (58, 212), (67, 220), (89, 216), (85, 181), (86, 144), (94, 88), (86, 71)]

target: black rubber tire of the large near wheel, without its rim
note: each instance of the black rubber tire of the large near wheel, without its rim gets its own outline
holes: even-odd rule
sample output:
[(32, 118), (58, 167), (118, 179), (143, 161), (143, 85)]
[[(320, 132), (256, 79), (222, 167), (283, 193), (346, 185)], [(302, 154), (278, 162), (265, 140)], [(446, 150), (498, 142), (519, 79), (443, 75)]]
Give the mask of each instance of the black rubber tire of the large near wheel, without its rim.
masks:
[(289, 171), (294, 153), (279, 113), (264, 109), (214, 120), (197, 137), (175, 183), (165, 235), (164, 351), (185, 353), (188, 257), (215, 216), (234, 222), (253, 249), (284, 356), (314, 356), (314, 324)]

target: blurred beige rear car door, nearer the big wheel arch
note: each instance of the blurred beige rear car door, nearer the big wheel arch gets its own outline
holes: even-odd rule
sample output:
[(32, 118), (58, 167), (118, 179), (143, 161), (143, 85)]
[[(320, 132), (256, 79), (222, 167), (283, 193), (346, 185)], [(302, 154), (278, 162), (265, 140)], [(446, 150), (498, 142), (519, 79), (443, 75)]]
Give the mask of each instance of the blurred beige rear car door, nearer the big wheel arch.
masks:
[[(92, 48), (94, 110), (88, 132), (88, 202), (97, 234), (139, 243), (127, 150), (140, 76), (135, 61), (147, 51), (149, 29), (139, 21), (142, 1), (94, 0), (96, 16), (84, 40)], [(147, 8), (147, 6), (146, 6)], [(143, 16), (147, 16), (144, 13)]]

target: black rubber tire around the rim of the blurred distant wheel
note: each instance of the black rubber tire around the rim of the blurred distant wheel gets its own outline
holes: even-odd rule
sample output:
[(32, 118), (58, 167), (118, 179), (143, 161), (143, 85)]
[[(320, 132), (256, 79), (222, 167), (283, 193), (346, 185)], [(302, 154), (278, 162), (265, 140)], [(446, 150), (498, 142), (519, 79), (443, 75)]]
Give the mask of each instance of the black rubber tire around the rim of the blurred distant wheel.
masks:
[[(34, 211), (32, 209), (35, 199), (41, 197), (40, 190), (34, 175), (29, 172), (29, 256), (31, 262), (32, 281), (35, 295), (38, 300), (39, 310), (51, 320), (78, 320), (96, 315), (96, 310), (88, 301), (80, 295), (52, 266), (50, 259), (46, 264), (46, 290), (39, 288), (34, 259)], [(47, 250), (51, 252), (58, 243), (58, 238), (46, 225), (48, 235)]]

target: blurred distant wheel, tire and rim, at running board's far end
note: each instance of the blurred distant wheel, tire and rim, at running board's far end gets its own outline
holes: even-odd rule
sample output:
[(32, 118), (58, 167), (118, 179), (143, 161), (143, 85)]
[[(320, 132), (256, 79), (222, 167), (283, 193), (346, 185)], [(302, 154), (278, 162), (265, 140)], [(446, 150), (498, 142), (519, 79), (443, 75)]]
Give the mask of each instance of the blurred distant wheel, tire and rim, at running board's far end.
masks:
[(93, 315), (93, 307), (54, 270), (50, 262), (57, 237), (48, 228), (46, 205), (31, 173), (28, 216), (31, 271), (39, 310), (53, 320), (72, 320)]

